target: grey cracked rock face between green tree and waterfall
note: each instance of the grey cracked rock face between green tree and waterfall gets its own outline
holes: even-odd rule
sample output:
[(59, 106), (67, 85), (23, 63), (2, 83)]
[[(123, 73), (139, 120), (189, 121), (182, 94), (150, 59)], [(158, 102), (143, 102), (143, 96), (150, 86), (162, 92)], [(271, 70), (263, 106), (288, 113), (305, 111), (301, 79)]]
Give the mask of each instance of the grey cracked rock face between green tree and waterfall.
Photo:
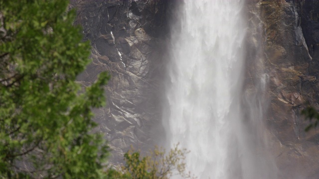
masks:
[(78, 77), (90, 85), (100, 72), (112, 76), (107, 106), (96, 109), (111, 162), (123, 161), (131, 145), (146, 150), (160, 139), (159, 96), (171, 0), (72, 0), (76, 24), (92, 44), (92, 63)]

